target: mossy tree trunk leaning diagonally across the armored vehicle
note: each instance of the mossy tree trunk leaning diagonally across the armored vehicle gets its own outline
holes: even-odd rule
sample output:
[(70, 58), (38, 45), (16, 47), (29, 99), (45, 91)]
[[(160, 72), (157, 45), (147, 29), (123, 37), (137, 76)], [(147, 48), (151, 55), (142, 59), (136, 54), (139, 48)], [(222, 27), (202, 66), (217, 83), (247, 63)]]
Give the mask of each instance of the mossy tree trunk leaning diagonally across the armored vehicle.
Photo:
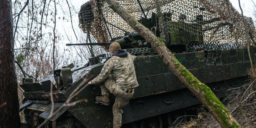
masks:
[(119, 3), (114, 0), (105, 0), (109, 7), (113, 9), (124, 21), (126, 21), (140, 36), (146, 39), (158, 52), (163, 62), (171, 69), (175, 76), (186, 85), (186, 87), (193, 92), (196, 97), (204, 104), (204, 106), (211, 112), (214, 118), (219, 122), (222, 128), (240, 128), (229, 110), (220, 102), (214, 95), (211, 89), (205, 84), (201, 83), (195, 76), (193, 76), (172, 54), (166, 47), (164, 42), (156, 37), (152, 31), (140, 24), (129, 13), (124, 10)]

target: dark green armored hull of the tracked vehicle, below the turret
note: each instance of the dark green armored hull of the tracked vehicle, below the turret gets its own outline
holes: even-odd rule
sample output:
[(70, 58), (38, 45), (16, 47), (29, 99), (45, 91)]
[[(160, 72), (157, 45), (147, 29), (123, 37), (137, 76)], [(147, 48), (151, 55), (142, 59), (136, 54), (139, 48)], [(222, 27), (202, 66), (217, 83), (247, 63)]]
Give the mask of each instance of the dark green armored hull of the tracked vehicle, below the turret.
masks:
[[(256, 48), (250, 48), (252, 55)], [(231, 50), (210, 50), (202, 52), (180, 53), (175, 57), (201, 82), (209, 86), (219, 98), (225, 96), (226, 90), (244, 84), (247, 76), (247, 69), (250, 62), (247, 49)], [(104, 62), (107, 59), (101, 59)], [(79, 62), (76, 65), (83, 65)], [(255, 60), (253, 60), (255, 63)], [(75, 67), (77, 67), (75, 65)], [(139, 87), (135, 88), (135, 93), (128, 105), (124, 107), (123, 124), (142, 120), (148, 117), (163, 115), (178, 109), (187, 108), (200, 101), (174, 76), (170, 69), (164, 65), (158, 55), (147, 55), (137, 57), (134, 61)], [(95, 103), (94, 97), (100, 95), (99, 85), (88, 85), (87, 82), (100, 73), (103, 64), (89, 66), (86, 68), (71, 68), (72, 76), (75, 77), (74, 84), (64, 91), (55, 94), (56, 100), (54, 110), (60, 108), (68, 96), (78, 87), (76, 93), (67, 101), (68, 103), (86, 99), (73, 106), (64, 107), (60, 112), (50, 119), (50, 122), (58, 122), (63, 116), (74, 117), (83, 127), (106, 128), (112, 127), (113, 114), (112, 106), (115, 96), (110, 97), (111, 105), (102, 106)], [(49, 80), (54, 83), (54, 79), (48, 77), (41, 81), (40, 86)], [(22, 87), (38, 85), (39, 83), (23, 84)], [(29, 90), (29, 89), (27, 89)], [(49, 90), (49, 89), (48, 89)], [(22, 106), (27, 115), (37, 112), (38, 118), (47, 119), (50, 115), (51, 101), (45, 98), (49, 94), (43, 87), (34, 91), (24, 92), (29, 99)], [(55, 92), (54, 92), (55, 93)], [(59, 96), (59, 98), (56, 98)], [(29, 116), (27, 116), (28, 120)], [(40, 124), (40, 123), (39, 123)]]

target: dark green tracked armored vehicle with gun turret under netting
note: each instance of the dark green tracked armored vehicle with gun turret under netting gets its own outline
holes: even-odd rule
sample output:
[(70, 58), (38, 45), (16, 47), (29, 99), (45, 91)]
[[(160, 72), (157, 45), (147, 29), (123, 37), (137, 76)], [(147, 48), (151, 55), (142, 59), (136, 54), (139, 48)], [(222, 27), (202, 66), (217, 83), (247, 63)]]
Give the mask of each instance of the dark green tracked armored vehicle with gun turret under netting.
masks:
[[(111, 58), (107, 51), (97, 55), (97, 48), (106, 50), (111, 42), (118, 42), (122, 49), (136, 56), (134, 67), (139, 87), (135, 88), (131, 101), (123, 109), (123, 127), (172, 126), (176, 119), (175, 115), (182, 116), (182, 114), (189, 113), (190, 111), (185, 108), (200, 104), (195, 95), (170, 71), (144, 38), (137, 32), (128, 32), (129, 28), (124, 30), (120, 26), (109, 23), (107, 13), (114, 14), (114, 12), (110, 10), (106, 12), (108, 6), (103, 1), (96, 2), (97, 12), (93, 2), (95, 1), (82, 5), (79, 14), (81, 28), (87, 31), (91, 43), (67, 45), (90, 45), (94, 56), (89, 60), (52, 71), (48, 77), (38, 83), (33, 83), (30, 77), (24, 78), (23, 84), (19, 85), (25, 96), (20, 110), (24, 110), (27, 123), (37, 126), (46, 122), (45, 127), (65, 128), (112, 127), (112, 106), (115, 96), (111, 94), (110, 106), (100, 105), (94, 100), (96, 95), (101, 94), (100, 86), (87, 84), (100, 73), (104, 63)], [(217, 97), (224, 97), (227, 89), (244, 84), (247, 69), (250, 68), (247, 49), (243, 48), (245, 44), (242, 41), (228, 40), (229, 32), (222, 34), (223, 38), (214, 38), (216, 33), (220, 35), (230, 26), (228, 22), (223, 22), (219, 17), (216, 18), (219, 15), (210, 15), (205, 12), (205, 8), (195, 2), (193, 6), (189, 4), (189, 7), (192, 6), (192, 9), (202, 11), (200, 12), (202, 15), (187, 14), (186, 16), (180, 13), (175, 17), (175, 12), (162, 12), (162, 17), (159, 17), (152, 10), (158, 10), (159, 6), (173, 7), (177, 1), (161, 5), (155, 3), (157, 5), (148, 11), (143, 11), (142, 8), (146, 6), (145, 1), (143, 1), (144, 4), (140, 4), (139, 0), (137, 2), (140, 5), (138, 5), (141, 9), (140, 14), (144, 15), (138, 21), (156, 36), (161, 37), (180, 63), (201, 82), (209, 86)], [(189, 3), (189, 1), (185, 2)], [(96, 13), (99, 15), (95, 16)], [(205, 18), (203, 14), (208, 15)], [(104, 31), (101, 29), (102, 26), (98, 28), (98, 33), (94, 29), (89, 31), (89, 28), (92, 28), (89, 25), (95, 24), (96, 18), (100, 21), (97, 23), (105, 25), (103, 28), (110, 42), (93, 43), (93, 38), (97, 42), (104, 41), (105, 38), (102, 35), (102, 38), (95, 36), (99, 35), (100, 31)], [(188, 21), (188, 19), (192, 20)], [(117, 21), (119, 21), (118, 17)], [(124, 35), (112, 38), (113, 33), (119, 30), (125, 31)], [(251, 47), (251, 56), (255, 53), (256, 48)], [(252, 61), (255, 63), (254, 57)], [(182, 114), (177, 113), (176, 110), (182, 110)], [(50, 115), (53, 116), (49, 118)]]

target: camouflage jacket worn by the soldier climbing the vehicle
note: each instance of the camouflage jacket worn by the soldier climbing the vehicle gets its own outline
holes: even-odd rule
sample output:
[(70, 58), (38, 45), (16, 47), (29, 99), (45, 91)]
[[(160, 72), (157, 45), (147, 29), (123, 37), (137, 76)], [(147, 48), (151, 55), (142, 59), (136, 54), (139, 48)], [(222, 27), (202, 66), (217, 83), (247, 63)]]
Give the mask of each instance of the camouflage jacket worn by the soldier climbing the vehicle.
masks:
[(100, 84), (111, 74), (116, 80), (117, 87), (129, 89), (139, 86), (134, 69), (134, 57), (128, 53), (127, 57), (112, 56), (106, 61), (99, 76), (92, 80), (92, 84)]

